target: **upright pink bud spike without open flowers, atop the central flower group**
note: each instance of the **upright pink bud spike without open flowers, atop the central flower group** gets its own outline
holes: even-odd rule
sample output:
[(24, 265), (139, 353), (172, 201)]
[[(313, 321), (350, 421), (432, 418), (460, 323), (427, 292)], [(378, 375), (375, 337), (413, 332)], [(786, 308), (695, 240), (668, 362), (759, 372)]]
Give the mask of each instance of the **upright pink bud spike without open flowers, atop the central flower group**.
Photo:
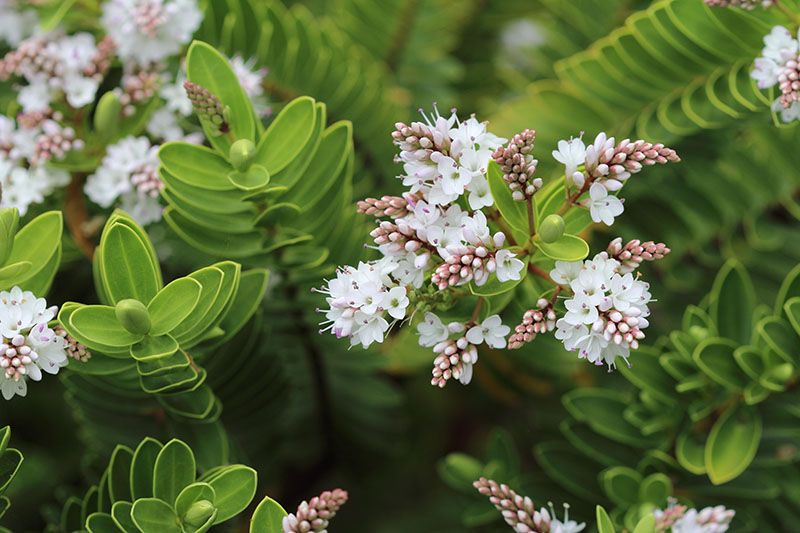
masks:
[(503, 171), (503, 181), (511, 189), (514, 200), (522, 202), (542, 188), (542, 179), (534, 178), (538, 160), (533, 158), (536, 131), (525, 129), (514, 135), (505, 148), (495, 150), (492, 157)]

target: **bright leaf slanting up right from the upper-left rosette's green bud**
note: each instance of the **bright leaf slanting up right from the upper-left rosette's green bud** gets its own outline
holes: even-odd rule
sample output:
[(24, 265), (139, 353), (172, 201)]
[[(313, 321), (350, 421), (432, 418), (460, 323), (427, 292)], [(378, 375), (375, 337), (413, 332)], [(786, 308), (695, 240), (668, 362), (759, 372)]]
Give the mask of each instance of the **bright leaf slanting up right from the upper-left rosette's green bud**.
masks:
[(301, 96), (289, 102), (261, 136), (254, 162), (275, 176), (300, 156), (314, 133), (316, 120), (313, 98)]

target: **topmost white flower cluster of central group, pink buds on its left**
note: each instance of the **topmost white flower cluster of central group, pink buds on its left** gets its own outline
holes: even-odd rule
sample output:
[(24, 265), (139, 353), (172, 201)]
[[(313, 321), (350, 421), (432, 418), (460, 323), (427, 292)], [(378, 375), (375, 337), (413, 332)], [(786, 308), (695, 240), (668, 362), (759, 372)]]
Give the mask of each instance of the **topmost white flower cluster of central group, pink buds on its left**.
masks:
[(506, 139), (488, 132), (475, 117), (461, 122), (455, 112), (444, 118), (438, 111), (423, 117), (425, 123), (398, 123), (393, 134), (405, 171), (403, 185), (431, 205), (449, 205), (465, 193), (472, 209), (494, 204), (486, 169)]

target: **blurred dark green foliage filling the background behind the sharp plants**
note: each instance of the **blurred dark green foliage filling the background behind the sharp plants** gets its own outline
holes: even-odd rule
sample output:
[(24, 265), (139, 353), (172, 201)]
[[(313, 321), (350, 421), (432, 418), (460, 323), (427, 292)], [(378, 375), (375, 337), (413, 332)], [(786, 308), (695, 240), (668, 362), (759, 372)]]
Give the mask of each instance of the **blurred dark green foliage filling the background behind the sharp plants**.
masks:
[[(784, 4), (800, 10), (794, 0)], [(724, 265), (746, 272), (753, 287), (752, 301), (730, 301), (749, 317), (746, 338), (731, 340), (737, 348), (769, 352), (759, 320), (780, 315), (774, 302), (788, 299), (780, 288), (800, 263), (800, 133), (777, 126), (769, 95), (749, 80), (779, 12), (712, 10), (701, 0), (206, 0), (204, 9), (197, 38), (267, 67), (276, 113), (309, 95), (325, 103), (329, 124), (352, 121), (352, 191), (342, 194), (354, 200), (399, 190), (389, 133), (432, 102), (476, 113), (497, 134), (536, 129), (543, 177), (556, 170), (549, 157), (556, 141), (582, 131), (664, 142), (682, 158), (632, 179), (614, 233), (591, 234), (594, 249), (617, 235), (673, 249), (650, 269), (658, 301), (648, 348), (633, 355), (631, 370), (608, 374), (540, 337), (514, 352), (482, 353), (472, 385), (440, 391), (428, 383), (431, 355), (413, 336), (371, 352), (347, 350), (316, 334), (319, 298), (309, 288), (319, 279), (273, 272), (246, 333), (205, 363), (224, 406), (231, 459), (256, 468), (263, 490), (288, 509), (321, 489), (347, 488), (336, 531), (506, 531), (470, 486), (481, 474), (539, 504), (570, 502), (583, 520), (592, 521), (600, 503), (619, 524), (630, 523), (671, 493), (736, 509), (733, 530), (796, 528), (798, 343), (784, 361), (783, 389), (770, 389), (764, 403), (750, 405), (713, 370), (698, 368), (691, 346), (682, 368), (699, 376), (695, 388), (676, 389), (682, 374), (658, 367), (668, 366), (664, 356), (680, 352), (675, 345), (686, 335), (727, 338), (715, 331), (716, 318), (692, 330), (685, 312), (694, 305), (704, 310), (697, 316), (713, 315)], [(366, 221), (353, 211), (342, 210), (348, 223), (331, 235), (336, 242), (318, 276), (366, 253)], [(165, 225), (150, 233), (165, 277), (209, 262)], [(91, 268), (69, 242), (57, 280), (53, 303), (94, 292)], [(532, 304), (512, 308), (520, 316)], [(665, 381), (643, 382), (649, 371)], [(0, 412), (0, 426), (13, 427), (12, 444), (26, 457), (6, 492), (13, 508), (5, 521), (15, 531), (56, 521), (68, 496), (97, 481), (114, 443), (171, 431), (157, 409), (120, 414), (124, 396), (106, 391), (106, 401), (92, 403), (75, 375), (63, 375), (60, 386), (35, 385), (30, 398)], [(758, 377), (747, 379), (758, 384)], [(651, 387), (667, 398), (654, 399)], [(587, 394), (595, 411), (578, 401)], [(708, 411), (693, 413), (693, 402)], [(677, 441), (691, 432), (702, 447), (717, 407), (731, 402), (763, 416), (763, 429), (752, 464), (714, 485), (708, 465), (687, 468)], [(673, 411), (680, 414), (647, 424)], [(626, 482), (639, 488), (631, 492)]]

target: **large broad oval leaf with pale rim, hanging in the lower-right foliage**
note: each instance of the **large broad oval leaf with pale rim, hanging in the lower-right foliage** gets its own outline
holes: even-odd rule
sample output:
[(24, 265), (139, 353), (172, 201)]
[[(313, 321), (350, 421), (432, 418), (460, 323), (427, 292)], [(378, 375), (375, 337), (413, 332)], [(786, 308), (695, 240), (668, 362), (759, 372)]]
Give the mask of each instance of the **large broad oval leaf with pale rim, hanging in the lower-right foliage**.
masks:
[(715, 485), (744, 472), (758, 450), (761, 416), (751, 407), (729, 407), (711, 428), (705, 447), (708, 477)]

